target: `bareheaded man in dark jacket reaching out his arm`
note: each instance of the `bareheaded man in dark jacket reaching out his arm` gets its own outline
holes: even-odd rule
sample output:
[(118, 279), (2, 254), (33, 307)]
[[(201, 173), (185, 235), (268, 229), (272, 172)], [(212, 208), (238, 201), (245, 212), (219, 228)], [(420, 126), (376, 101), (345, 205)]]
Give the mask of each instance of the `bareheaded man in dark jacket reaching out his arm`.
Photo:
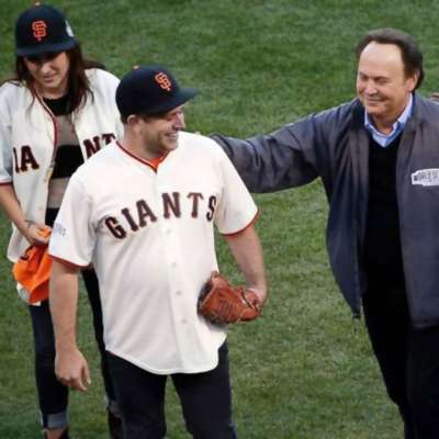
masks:
[(330, 264), (374, 353), (406, 439), (439, 437), (439, 105), (415, 92), (423, 54), (403, 32), (357, 47), (357, 99), (279, 131), (213, 136), (252, 192), (320, 177)]

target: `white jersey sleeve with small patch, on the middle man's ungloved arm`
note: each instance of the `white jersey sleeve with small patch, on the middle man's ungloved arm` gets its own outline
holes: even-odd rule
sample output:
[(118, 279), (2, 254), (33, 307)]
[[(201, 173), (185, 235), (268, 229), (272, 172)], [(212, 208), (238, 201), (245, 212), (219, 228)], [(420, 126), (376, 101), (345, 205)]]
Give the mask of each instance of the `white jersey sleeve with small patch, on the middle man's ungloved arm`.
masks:
[(48, 252), (77, 267), (90, 264), (95, 244), (91, 196), (74, 175), (67, 185), (52, 230)]

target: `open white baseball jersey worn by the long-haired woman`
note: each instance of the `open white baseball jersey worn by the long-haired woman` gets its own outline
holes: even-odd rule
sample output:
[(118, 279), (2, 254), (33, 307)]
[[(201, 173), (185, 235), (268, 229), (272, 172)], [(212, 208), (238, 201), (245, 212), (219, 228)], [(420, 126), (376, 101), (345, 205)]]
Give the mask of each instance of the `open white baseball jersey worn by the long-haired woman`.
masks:
[[(87, 69), (93, 98), (72, 115), (83, 159), (123, 134), (114, 95), (119, 79)], [(26, 219), (44, 224), (50, 169), (57, 143), (54, 116), (21, 83), (0, 87), (0, 184), (13, 184)], [(12, 225), (8, 258), (16, 261), (29, 247)]]

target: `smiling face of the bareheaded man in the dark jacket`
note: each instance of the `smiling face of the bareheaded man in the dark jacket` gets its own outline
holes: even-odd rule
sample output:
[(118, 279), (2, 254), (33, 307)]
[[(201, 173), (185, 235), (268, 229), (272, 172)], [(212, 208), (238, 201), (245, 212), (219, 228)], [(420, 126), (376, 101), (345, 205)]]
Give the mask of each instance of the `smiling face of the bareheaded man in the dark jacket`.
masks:
[(417, 80), (417, 72), (406, 75), (398, 46), (372, 42), (364, 47), (358, 63), (357, 95), (378, 130), (387, 132), (398, 119)]

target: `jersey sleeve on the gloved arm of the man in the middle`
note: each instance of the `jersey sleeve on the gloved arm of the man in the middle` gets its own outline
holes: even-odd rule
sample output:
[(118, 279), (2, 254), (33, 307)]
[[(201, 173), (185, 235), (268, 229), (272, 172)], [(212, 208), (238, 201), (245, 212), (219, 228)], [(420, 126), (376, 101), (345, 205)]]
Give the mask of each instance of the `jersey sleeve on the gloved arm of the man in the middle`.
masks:
[(218, 156), (223, 191), (214, 222), (221, 234), (233, 235), (255, 221), (258, 207), (225, 153), (219, 149)]

